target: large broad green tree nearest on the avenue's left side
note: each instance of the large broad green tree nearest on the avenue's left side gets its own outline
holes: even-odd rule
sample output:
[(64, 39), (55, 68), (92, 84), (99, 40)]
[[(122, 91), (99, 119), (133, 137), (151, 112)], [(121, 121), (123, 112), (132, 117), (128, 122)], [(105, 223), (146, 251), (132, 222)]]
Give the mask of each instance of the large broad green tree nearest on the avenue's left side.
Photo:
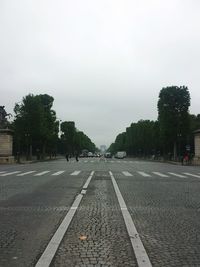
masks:
[(14, 107), (15, 147), (20, 152), (32, 154), (46, 151), (55, 153), (58, 139), (59, 122), (56, 112), (52, 110), (53, 97), (47, 94), (29, 94), (21, 104)]

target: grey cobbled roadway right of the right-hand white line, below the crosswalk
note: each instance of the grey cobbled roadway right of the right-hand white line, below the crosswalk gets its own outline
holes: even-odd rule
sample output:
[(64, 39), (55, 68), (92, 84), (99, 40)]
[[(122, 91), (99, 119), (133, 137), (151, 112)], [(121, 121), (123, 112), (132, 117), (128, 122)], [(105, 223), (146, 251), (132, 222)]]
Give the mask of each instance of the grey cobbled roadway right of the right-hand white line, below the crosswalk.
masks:
[(115, 177), (152, 265), (200, 266), (200, 179)]

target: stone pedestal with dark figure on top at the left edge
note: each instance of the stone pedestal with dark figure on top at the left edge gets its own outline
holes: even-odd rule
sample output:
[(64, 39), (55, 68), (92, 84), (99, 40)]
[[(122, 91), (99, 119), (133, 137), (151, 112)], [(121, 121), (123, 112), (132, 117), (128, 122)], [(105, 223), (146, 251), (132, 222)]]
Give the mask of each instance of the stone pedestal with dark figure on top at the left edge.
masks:
[(8, 128), (5, 106), (0, 106), (0, 163), (14, 163), (13, 150), (13, 131)]

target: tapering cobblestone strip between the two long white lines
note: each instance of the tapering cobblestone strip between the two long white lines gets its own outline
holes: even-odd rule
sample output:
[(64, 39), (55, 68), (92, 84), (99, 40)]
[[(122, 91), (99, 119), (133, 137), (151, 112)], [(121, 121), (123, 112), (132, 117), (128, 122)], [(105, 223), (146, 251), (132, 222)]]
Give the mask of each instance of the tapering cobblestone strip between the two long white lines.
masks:
[(108, 172), (95, 172), (51, 266), (137, 266)]

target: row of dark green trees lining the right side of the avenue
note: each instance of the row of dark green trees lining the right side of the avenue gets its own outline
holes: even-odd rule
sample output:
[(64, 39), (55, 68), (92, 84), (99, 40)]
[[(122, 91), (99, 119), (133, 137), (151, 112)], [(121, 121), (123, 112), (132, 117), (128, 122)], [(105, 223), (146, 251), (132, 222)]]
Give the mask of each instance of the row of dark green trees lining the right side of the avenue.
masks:
[(109, 151), (126, 151), (129, 156), (181, 159), (194, 153), (193, 132), (200, 129), (200, 114), (189, 113), (190, 94), (186, 86), (164, 87), (157, 103), (158, 119), (131, 123), (117, 135)]

